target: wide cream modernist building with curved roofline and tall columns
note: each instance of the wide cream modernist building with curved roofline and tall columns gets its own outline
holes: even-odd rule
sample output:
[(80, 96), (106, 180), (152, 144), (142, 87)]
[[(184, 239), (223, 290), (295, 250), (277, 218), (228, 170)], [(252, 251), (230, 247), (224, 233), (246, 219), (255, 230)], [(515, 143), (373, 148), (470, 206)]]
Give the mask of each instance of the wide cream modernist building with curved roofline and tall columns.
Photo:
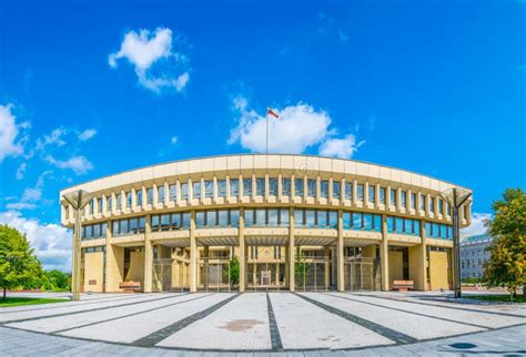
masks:
[(452, 187), (351, 160), (242, 154), (138, 169), (61, 197), (93, 195), (81, 218), (84, 292), (388, 290), (396, 280), (434, 290), (452, 287), (441, 195)]

